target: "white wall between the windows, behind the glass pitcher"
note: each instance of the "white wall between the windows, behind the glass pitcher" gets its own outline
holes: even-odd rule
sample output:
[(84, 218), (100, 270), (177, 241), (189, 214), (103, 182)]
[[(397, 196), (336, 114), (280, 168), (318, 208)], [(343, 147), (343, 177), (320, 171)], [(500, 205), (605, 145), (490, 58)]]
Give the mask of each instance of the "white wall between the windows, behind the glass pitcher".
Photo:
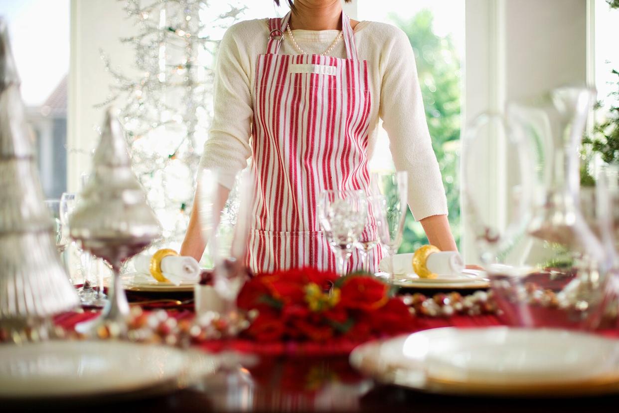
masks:
[[(467, 0), (465, 8), (463, 128), (484, 111), (503, 111), (511, 99), (563, 84), (587, 83), (587, 0)], [(500, 148), (478, 185), (487, 188), (487, 211), (505, 219), (506, 160)], [(465, 210), (462, 216), (465, 218)], [(463, 219), (465, 261), (478, 261)]]

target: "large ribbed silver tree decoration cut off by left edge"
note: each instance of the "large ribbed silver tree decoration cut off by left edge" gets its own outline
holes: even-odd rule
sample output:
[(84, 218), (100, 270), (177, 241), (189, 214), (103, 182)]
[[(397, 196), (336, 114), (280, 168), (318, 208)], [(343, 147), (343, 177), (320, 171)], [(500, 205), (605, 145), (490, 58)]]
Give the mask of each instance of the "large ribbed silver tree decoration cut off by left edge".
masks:
[(43, 203), (19, 85), (0, 18), (0, 338), (13, 341), (45, 337), (51, 316), (79, 305)]

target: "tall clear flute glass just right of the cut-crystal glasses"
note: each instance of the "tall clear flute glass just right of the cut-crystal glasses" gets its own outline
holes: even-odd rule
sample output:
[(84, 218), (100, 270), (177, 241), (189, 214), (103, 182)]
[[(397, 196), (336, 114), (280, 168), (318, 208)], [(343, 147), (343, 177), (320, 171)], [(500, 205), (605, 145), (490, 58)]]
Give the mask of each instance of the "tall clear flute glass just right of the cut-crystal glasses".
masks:
[[(391, 268), (394, 267), (393, 257), (402, 243), (407, 209), (407, 183), (405, 172), (379, 172), (371, 175), (371, 189), (380, 197), (376, 202), (380, 212), (378, 235), (391, 259)], [(389, 280), (392, 278), (393, 274), (389, 274)]]

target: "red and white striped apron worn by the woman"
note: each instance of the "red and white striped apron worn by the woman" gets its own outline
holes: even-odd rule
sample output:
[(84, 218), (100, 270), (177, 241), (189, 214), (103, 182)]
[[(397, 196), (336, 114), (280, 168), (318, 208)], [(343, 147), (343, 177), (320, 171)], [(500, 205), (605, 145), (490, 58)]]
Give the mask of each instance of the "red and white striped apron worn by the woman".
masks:
[[(256, 199), (249, 266), (258, 272), (297, 267), (335, 270), (319, 222), (324, 189), (369, 188), (367, 61), (357, 59), (342, 13), (347, 59), (278, 54), (290, 13), (270, 19), (266, 54), (258, 56), (253, 91)], [(368, 259), (378, 269), (380, 247)], [(348, 271), (361, 269), (357, 251)]]

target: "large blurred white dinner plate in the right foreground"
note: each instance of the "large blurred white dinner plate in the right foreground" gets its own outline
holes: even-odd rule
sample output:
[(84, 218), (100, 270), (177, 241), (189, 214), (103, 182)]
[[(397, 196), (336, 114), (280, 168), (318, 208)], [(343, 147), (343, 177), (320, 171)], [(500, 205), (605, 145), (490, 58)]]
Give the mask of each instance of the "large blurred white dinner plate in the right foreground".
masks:
[(560, 329), (431, 329), (357, 347), (350, 362), (377, 380), (433, 393), (619, 393), (619, 341)]

